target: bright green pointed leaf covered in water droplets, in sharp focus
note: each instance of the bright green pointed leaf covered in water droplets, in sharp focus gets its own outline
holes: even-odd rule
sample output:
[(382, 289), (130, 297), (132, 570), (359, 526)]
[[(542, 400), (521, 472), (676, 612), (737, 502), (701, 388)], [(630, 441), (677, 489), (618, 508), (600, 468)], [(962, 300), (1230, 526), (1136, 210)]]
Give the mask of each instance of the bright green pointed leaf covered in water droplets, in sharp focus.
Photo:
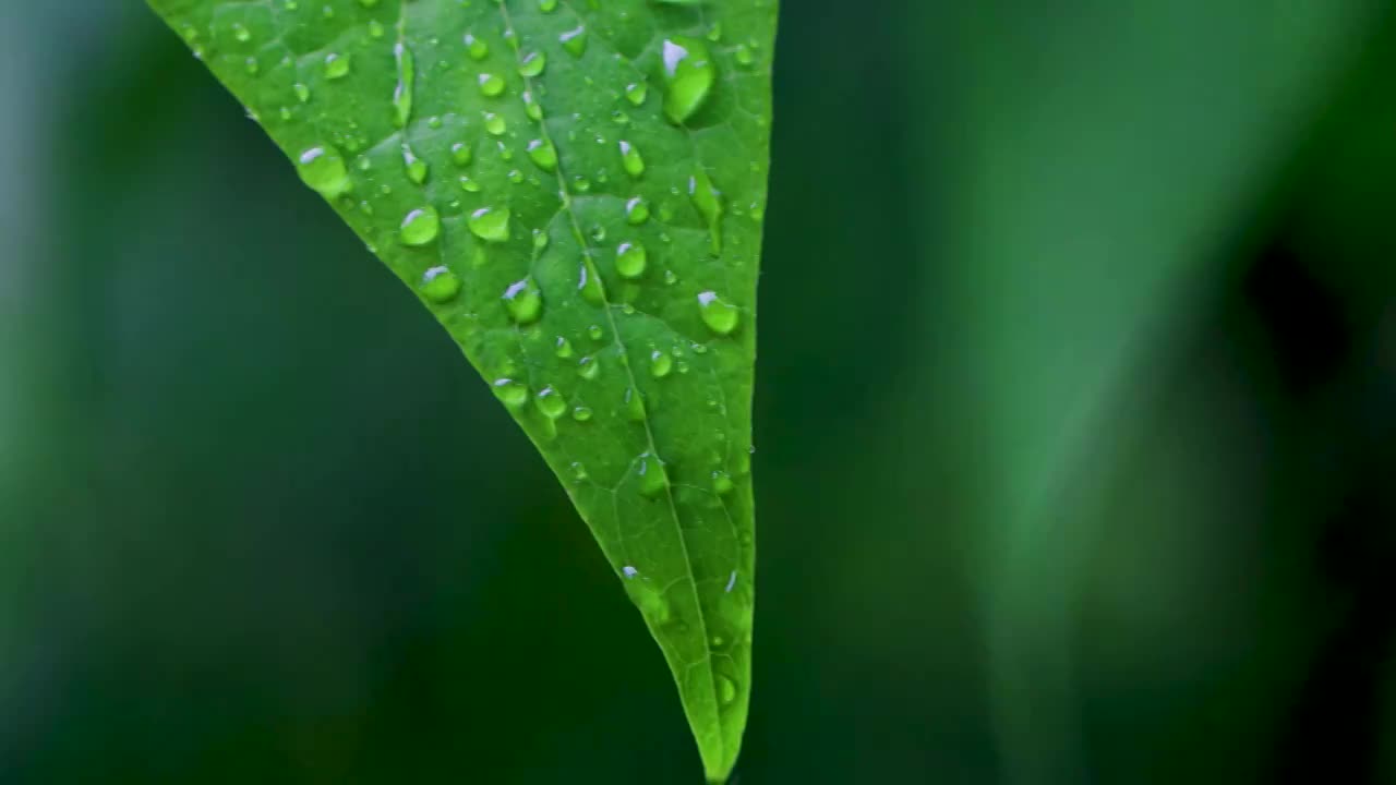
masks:
[(751, 687), (775, 0), (151, 6), (537, 444), (726, 779)]

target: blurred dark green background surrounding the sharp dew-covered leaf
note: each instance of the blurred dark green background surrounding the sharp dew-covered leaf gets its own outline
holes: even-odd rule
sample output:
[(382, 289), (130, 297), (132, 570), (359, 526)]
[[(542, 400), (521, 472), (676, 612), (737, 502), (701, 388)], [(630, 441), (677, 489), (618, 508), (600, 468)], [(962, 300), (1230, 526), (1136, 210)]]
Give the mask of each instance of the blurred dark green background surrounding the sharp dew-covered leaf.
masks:
[[(741, 785), (1396, 782), (1396, 7), (780, 46)], [(699, 779), (543, 461), (144, 4), (0, 4), (0, 782)]]

